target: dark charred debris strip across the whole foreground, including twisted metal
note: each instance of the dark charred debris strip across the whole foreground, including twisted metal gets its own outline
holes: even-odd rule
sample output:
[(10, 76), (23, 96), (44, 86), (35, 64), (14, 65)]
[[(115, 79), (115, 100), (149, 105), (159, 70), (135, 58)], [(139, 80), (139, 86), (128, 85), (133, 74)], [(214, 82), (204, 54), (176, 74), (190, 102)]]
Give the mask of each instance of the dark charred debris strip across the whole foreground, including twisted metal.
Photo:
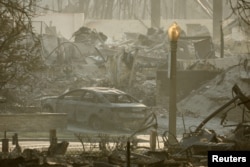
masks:
[[(168, 131), (157, 134), (157, 124), (150, 135), (150, 144), (131, 136), (96, 137), (77, 134), (81, 146), (69, 147), (68, 141), (58, 142), (56, 130), (50, 131), (50, 145), (38, 149), (22, 150), (18, 134), (12, 137), (13, 149), (9, 151), (9, 139), (4, 134), (0, 164), (14, 166), (206, 166), (210, 150), (249, 150), (249, 109), (250, 98), (244, 95), (237, 84), (232, 88), (232, 99), (207, 116), (197, 127), (185, 130), (181, 139), (169, 140)], [(233, 106), (233, 107), (232, 107)], [(226, 118), (235, 108), (241, 106), (240, 123), (227, 124)], [(205, 128), (206, 123), (220, 115), (223, 127), (233, 127), (228, 135), (217, 134), (214, 129)], [(158, 139), (158, 140), (157, 140)], [(156, 148), (158, 143), (158, 148)], [(162, 143), (163, 145), (161, 145)], [(161, 145), (161, 146), (160, 146)]]

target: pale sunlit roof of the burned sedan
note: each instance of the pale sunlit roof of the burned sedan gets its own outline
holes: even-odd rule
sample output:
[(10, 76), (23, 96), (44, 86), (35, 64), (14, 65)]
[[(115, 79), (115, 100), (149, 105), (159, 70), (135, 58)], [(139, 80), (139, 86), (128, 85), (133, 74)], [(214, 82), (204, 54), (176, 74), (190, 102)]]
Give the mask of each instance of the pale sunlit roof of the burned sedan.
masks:
[(90, 90), (102, 94), (126, 94), (125, 92), (109, 87), (82, 87), (80, 90)]

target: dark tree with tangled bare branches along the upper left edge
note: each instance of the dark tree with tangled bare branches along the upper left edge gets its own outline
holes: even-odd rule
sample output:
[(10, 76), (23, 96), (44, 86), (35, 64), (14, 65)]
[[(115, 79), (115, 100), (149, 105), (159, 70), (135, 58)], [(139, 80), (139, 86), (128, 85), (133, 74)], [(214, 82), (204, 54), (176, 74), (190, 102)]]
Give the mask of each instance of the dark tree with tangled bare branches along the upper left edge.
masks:
[[(8, 83), (18, 86), (40, 68), (40, 42), (32, 31), (33, 3), (0, 1), (0, 89)], [(25, 83), (27, 84), (27, 83)]]

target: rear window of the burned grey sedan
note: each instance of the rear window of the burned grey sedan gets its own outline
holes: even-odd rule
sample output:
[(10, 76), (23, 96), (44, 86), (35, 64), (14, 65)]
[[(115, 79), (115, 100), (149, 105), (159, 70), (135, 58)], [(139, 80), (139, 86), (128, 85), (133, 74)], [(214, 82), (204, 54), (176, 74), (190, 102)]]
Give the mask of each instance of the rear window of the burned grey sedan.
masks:
[(136, 99), (126, 94), (104, 94), (110, 103), (138, 103)]

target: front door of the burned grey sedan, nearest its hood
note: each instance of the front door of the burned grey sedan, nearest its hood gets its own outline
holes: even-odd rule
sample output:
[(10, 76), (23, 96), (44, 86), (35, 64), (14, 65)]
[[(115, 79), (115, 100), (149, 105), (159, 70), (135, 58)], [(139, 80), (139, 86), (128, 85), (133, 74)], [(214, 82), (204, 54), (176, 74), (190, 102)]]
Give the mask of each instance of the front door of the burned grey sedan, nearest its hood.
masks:
[(56, 104), (58, 112), (67, 113), (68, 119), (70, 121), (75, 121), (76, 119), (76, 106), (81, 103), (81, 96), (83, 92), (81, 90), (75, 90), (66, 93), (65, 95), (59, 97)]

